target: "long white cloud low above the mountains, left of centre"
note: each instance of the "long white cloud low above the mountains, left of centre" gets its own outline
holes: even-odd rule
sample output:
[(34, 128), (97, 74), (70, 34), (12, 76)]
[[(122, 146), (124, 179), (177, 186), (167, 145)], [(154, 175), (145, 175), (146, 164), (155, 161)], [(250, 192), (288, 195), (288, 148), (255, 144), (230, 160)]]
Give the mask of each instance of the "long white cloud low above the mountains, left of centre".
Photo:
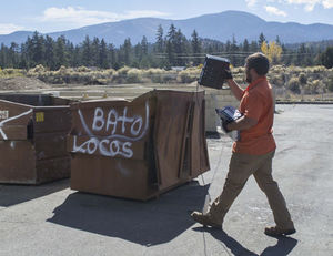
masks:
[(39, 19), (43, 22), (65, 22), (72, 25), (89, 25), (142, 17), (163, 17), (167, 14), (168, 13), (153, 10), (134, 10), (127, 11), (124, 13), (114, 13), (108, 11), (87, 10), (81, 7), (51, 7), (46, 9), (43, 11), (43, 16)]

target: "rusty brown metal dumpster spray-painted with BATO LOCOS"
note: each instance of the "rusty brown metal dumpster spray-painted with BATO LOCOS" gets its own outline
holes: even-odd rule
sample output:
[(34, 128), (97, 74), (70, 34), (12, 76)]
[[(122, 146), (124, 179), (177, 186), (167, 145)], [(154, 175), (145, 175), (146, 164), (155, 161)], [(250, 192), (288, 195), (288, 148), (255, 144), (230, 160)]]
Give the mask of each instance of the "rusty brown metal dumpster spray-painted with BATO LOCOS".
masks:
[(204, 92), (71, 104), (71, 188), (148, 199), (208, 171)]

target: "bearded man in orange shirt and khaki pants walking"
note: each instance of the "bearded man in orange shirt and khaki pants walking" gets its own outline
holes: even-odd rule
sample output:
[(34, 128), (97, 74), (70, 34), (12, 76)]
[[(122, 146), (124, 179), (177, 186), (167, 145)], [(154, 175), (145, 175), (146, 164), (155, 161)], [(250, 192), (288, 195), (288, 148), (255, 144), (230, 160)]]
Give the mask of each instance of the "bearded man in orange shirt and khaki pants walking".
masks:
[(269, 236), (294, 234), (296, 231), (278, 183), (272, 177), (272, 160), (275, 153), (273, 137), (274, 104), (272, 88), (266, 80), (270, 63), (262, 53), (246, 58), (245, 74), (249, 86), (243, 90), (225, 71), (228, 84), (234, 96), (241, 101), (239, 120), (226, 124), (226, 130), (239, 130), (241, 139), (233, 144), (229, 172), (221, 195), (206, 214), (193, 212), (192, 218), (204, 225), (222, 228), (223, 219), (232, 203), (253, 174), (259, 187), (265, 193), (276, 226), (266, 227)]

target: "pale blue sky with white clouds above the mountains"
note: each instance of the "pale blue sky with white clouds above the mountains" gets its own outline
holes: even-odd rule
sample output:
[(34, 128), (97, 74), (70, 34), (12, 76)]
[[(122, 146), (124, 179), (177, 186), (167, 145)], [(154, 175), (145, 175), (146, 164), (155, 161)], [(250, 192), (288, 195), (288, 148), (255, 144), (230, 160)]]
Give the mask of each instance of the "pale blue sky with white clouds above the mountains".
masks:
[[(140, 17), (186, 19), (226, 10), (268, 21), (333, 24), (333, 0), (1, 0), (0, 34), (54, 32)], [(3, 3), (4, 2), (4, 3)]]

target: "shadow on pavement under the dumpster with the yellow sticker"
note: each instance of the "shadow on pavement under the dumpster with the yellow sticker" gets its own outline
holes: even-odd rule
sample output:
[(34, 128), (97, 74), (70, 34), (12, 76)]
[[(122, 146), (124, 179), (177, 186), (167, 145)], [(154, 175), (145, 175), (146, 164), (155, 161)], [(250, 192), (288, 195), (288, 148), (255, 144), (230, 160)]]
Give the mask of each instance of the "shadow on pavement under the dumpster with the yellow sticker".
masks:
[(9, 207), (69, 187), (69, 178), (41, 185), (0, 185), (0, 207)]

